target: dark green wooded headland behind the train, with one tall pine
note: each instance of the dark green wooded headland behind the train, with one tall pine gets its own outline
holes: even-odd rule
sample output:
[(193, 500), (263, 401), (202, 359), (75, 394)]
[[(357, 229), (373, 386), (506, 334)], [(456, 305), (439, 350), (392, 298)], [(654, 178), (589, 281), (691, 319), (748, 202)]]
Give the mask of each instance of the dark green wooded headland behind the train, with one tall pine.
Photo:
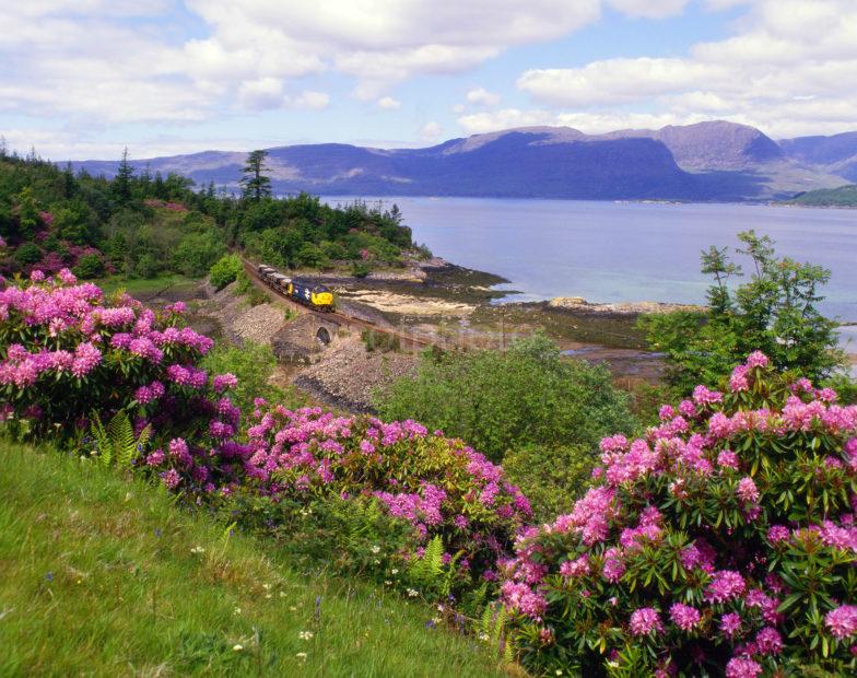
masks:
[(127, 151), (107, 178), (0, 143), (0, 272), (73, 267), (82, 278), (200, 277), (235, 247), (275, 266), (367, 271), (399, 264), (412, 247), (396, 206), (274, 197), (265, 160), (265, 151), (248, 155), (236, 196), (134, 167)]

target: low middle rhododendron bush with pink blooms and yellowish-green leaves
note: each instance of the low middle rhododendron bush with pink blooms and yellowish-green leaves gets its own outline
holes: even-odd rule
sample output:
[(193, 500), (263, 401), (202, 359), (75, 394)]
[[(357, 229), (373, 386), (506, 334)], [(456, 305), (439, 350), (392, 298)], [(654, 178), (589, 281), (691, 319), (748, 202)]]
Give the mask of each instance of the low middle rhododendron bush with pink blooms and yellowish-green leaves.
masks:
[(530, 515), (500, 466), (413, 421), (257, 405), (245, 471), (262, 494), (306, 505), (374, 499), (412, 526), (414, 547), (439, 536), (462, 577), (496, 577), (497, 557)]

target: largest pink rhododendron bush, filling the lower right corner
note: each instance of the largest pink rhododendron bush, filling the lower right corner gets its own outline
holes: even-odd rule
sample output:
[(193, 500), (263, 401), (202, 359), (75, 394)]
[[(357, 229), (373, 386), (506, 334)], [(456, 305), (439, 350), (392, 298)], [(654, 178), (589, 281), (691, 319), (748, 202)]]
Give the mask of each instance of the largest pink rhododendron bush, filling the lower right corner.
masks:
[(504, 564), (524, 661), (553, 675), (857, 669), (857, 407), (761, 353), (644, 437)]

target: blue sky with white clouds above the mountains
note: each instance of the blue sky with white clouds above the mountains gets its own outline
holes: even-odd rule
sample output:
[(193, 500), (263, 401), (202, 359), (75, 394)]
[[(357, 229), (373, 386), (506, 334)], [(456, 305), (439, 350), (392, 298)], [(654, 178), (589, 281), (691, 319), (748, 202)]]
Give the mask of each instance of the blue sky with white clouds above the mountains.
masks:
[(0, 135), (55, 161), (709, 119), (857, 129), (857, 0), (0, 2)]

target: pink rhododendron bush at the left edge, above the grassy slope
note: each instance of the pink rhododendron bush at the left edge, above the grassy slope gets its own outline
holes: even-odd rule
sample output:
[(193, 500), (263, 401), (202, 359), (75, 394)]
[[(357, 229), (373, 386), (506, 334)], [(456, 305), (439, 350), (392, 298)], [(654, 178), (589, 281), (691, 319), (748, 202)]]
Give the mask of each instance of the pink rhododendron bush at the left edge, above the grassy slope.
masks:
[[(93, 412), (125, 410), (160, 445), (145, 458), (171, 488), (213, 491), (242, 470), (232, 439), (240, 412), (232, 375), (197, 364), (208, 337), (180, 327), (180, 302), (155, 313), (128, 295), (106, 300), (67, 269), (0, 291), (2, 416), (19, 434), (80, 441)], [(190, 442), (189, 442), (190, 441)]]

